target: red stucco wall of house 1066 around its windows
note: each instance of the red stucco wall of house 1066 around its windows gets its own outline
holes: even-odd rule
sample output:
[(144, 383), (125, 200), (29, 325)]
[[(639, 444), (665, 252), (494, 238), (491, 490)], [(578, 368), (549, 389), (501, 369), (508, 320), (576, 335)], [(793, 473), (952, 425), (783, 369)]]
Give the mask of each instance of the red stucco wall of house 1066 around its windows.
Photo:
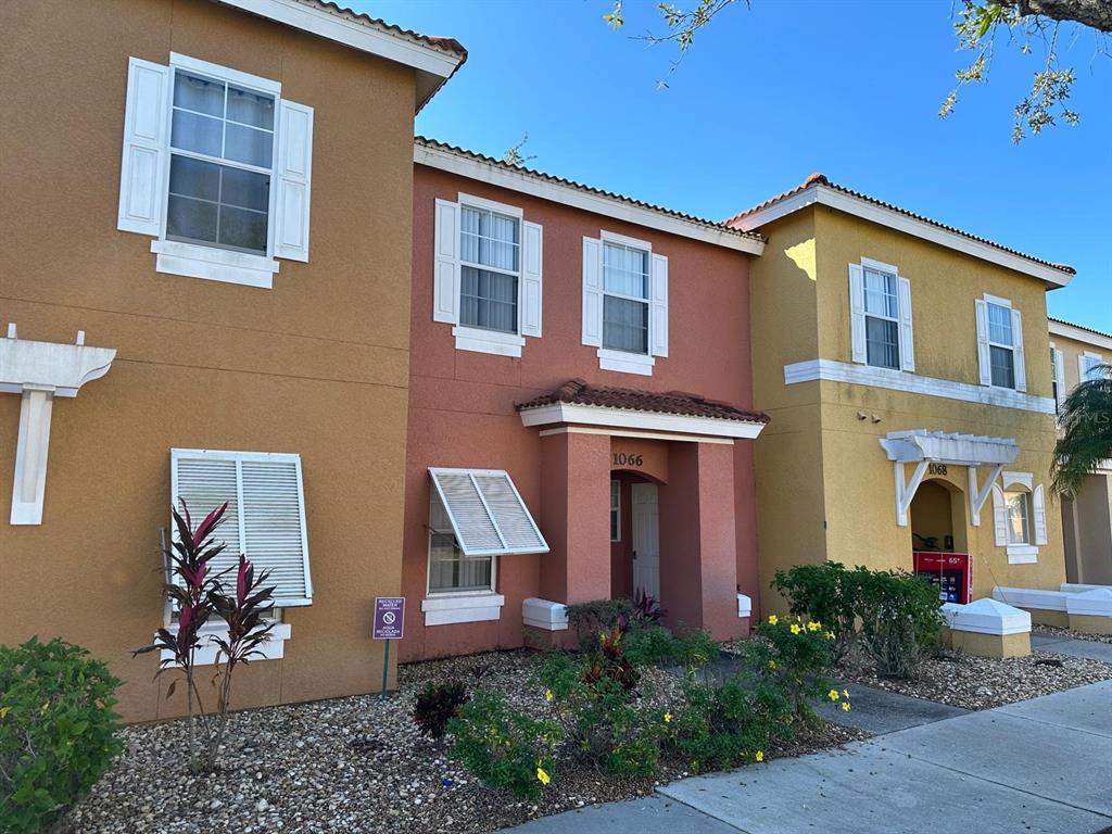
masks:
[[(433, 321), (434, 206), (436, 199), (455, 201), (460, 192), (520, 207), (525, 220), (544, 227), (544, 336), (527, 338), (520, 358), (457, 350), (451, 326)], [(657, 358), (651, 377), (600, 370), (596, 349), (580, 341), (583, 238), (598, 237), (602, 230), (648, 240), (654, 252), (668, 258), (669, 356)], [(582, 378), (592, 385), (682, 390), (742, 407), (754, 406), (748, 370), (748, 256), (419, 165), (414, 187), (411, 316), (403, 570), (403, 589), (410, 600), (401, 646), (406, 659), (520, 645), (523, 599), (543, 596), (543, 586), (559, 588), (566, 582), (565, 568), (547, 565), (546, 560), (556, 557), (557, 548), (566, 552), (567, 534), (546, 529), (542, 523), (554, 553), (498, 560), (497, 590), (505, 596), (498, 620), (425, 627), (419, 602), (427, 587), (430, 466), (506, 469), (539, 519), (566, 513), (562, 506), (545, 504), (545, 495), (553, 494), (560, 477), (568, 477), (560, 467), (569, 457), (588, 448), (593, 449), (589, 454), (606, 454), (605, 461), (598, 464), (598, 484), (593, 481), (590, 486), (592, 495), (597, 492), (597, 513), (584, 510), (589, 517), (579, 522), (593, 530), (592, 560), (606, 568), (597, 576), (593, 569), (590, 573), (598, 580), (598, 596), (607, 595), (616, 579), (612, 562), (615, 553), (608, 537), (609, 444), (593, 444), (585, 440), (589, 435), (575, 435), (575, 448), (557, 454), (560, 444), (550, 441), (560, 436), (543, 443), (536, 428), (522, 426), (515, 403), (552, 390), (570, 378)], [(568, 436), (562, 437), (566, 444)], [(624, 439), (615, 439), (614, 444), (615, 448), (628, 446)], [(646, 465), (653, 470), (646, 474), (654, 479), (667, 478), (672, 458), (665, 450), (681, 445), (694, 446), (647, 446)], [(718, 447), (724, 451), (716, 454), (727, 456), (734, 478), (741, 479), (728, 499), (733, 503), (728, 523), (734, 526), (731, 558), (736, 558), (733, 573), (743, 590), (756, 598), (751, 446), (751, 441), (739, 441)], [(627, 512), (623, 515), (628, 519)], [(667, 523), (662, 513), (662, 542)], [(580, 588), (577, 593), (585, 592)], [(736, 593), (733, 584), (728, 593)]]

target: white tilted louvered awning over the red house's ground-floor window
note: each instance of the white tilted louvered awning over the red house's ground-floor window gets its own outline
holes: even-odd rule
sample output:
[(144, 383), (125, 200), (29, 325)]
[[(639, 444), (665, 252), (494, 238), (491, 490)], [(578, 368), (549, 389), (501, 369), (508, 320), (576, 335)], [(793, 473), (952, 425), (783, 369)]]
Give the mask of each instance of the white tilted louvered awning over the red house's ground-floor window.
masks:
[(505, 470), (430, 468), (428, 474), (464, 556), (548, 553), (548, 543)]

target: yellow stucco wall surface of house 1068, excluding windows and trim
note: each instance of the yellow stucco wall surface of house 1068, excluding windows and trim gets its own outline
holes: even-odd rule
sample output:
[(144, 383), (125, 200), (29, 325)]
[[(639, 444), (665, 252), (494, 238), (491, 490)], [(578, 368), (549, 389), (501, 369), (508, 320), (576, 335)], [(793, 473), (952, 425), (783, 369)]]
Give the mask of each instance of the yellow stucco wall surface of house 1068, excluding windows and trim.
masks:
[[(1031, 473), (1034, 485), (1045, 487), (1049, 543), (1039, 548), (1036, 564), (1010, 565), (1005, 548), (995, 545), (991, 498), (981, 525), (973, 526), (967, 470), (947, 467), (955, 549), (973, 557), (974, 596), (990, 594), (995, 584), (1063, 582), (1061, 512), (1049, 487), (1051, 415), (863, 385), (784, 383), (786, 364), (851, 361), (848, 265), (866, 257), (898, 267), (912, 282), (917, 376), (977, 385), (974, 300), (987, 292), (1021, 310), (1027, 394), (1049, 398), (1044, 285), (822, 206), (759, 231), (768, 246), (751, 282), (754, 398), (773, 417), (756, 444), (763, 585), (780, 567), (822, 557), (911, 568), (914, 523), (896, 523), (894, 467), (878, 443), (905, 429), (1014, 438), (1020, 453), (1007, 469)], [(774, 597), (768, 603), (777, 605)]]

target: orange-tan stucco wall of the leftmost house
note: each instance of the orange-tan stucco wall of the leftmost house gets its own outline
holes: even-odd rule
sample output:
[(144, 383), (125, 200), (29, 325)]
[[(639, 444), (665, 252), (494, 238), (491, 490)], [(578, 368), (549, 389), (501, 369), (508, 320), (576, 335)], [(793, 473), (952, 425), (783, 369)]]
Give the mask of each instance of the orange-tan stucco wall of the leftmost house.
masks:
[[(301, 455), (315, 602), (247, 706), (366, 692), (370, 605), (400, 587), (408, 385), (413, 70), (200, 0), (0, 9), (0, 317), (21, 337), (117, 348), (56, 400), (43, 524), (7, 524), (19, 398), (0, 395), (0, 642), (56, 634), (126, 681), (126, 717), (180, 709), (131, 659), (162, 624), (169, 449)], [(272, 290), (155, 271), (117, 231), (129, 56), (262, 76), (315, 109), (311, 249)]]

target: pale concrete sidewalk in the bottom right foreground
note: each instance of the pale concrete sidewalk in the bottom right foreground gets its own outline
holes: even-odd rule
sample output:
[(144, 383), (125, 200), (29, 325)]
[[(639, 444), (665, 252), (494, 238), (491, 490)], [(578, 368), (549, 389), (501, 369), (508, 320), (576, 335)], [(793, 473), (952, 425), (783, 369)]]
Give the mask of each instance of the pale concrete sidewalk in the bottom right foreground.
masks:
[(1096, 834), (1112, 826), (1112, 681), (845, 749), (675, 782), (522, 834)]

